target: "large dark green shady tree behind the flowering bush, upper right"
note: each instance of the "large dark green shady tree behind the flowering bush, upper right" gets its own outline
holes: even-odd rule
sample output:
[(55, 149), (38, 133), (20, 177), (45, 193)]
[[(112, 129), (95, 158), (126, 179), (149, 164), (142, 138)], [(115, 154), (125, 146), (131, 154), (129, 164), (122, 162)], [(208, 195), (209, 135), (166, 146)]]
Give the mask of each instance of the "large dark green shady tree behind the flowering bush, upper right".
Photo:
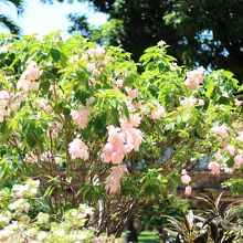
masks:
[[(86, 32), (99, 43), (122, 45), (138, 60), (146, 47), (162, 39), (180, 64), (226, 68), (243, 80), (243, 0), (78, 1), (108, 14), (106, 24)], [(70, 19), (70, 31), (87, 27), (81, 13)]]

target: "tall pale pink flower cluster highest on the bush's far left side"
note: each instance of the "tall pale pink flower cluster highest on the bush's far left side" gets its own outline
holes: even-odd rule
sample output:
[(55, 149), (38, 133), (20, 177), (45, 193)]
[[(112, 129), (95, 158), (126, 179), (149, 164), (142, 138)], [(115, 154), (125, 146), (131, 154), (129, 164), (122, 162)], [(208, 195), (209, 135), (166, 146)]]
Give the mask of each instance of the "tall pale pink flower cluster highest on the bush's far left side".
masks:
[(22, 73), (20, 81), (18, 82), (18, 88), (23, 88), (24, 92), (38, 91), (40, 84), (35, 82), (42, 74), (39, 70), (36, 62), (29, 61), (27, 63), (27, 70)]

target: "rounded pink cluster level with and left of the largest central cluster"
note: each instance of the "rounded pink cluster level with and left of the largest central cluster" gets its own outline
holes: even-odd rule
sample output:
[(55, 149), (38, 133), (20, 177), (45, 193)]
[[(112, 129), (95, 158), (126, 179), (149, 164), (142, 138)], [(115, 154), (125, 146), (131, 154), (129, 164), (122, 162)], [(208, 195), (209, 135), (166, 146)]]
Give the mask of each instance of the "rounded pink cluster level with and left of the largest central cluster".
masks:
[(73, 141), (70, 142), (68, 152), (72, 159), (88, 159), (88, 147), (80, 138), (75, 138)]

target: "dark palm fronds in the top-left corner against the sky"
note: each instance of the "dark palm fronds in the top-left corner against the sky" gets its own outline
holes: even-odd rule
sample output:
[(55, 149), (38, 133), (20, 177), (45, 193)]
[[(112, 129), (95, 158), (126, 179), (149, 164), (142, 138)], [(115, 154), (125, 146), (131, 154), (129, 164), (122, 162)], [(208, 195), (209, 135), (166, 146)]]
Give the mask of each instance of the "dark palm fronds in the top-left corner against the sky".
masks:
[(2, 13), (1, 9), (4, 4), (14, 6), (18, 14), (21, 14), (23, 12), (23, 0), (0, 0), (0, 25), (8, 29), (13, 34), (20, 34), (20, 28), (10, 17)]

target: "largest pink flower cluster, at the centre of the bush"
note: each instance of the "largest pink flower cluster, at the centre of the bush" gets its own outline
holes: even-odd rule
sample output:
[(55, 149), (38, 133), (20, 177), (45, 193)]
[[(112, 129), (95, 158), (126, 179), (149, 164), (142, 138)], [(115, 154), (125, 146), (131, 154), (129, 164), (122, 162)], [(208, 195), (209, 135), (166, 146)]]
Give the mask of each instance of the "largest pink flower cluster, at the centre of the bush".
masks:
[(139, 126), (140, 117), (130, 115), (130, 120), (120, 119), (120, 128), (108, 126), (107, 144), (103, 148), (102, 158), (105, 162), (122, 163), (126, 154), (139, 150), (142, 141)]

